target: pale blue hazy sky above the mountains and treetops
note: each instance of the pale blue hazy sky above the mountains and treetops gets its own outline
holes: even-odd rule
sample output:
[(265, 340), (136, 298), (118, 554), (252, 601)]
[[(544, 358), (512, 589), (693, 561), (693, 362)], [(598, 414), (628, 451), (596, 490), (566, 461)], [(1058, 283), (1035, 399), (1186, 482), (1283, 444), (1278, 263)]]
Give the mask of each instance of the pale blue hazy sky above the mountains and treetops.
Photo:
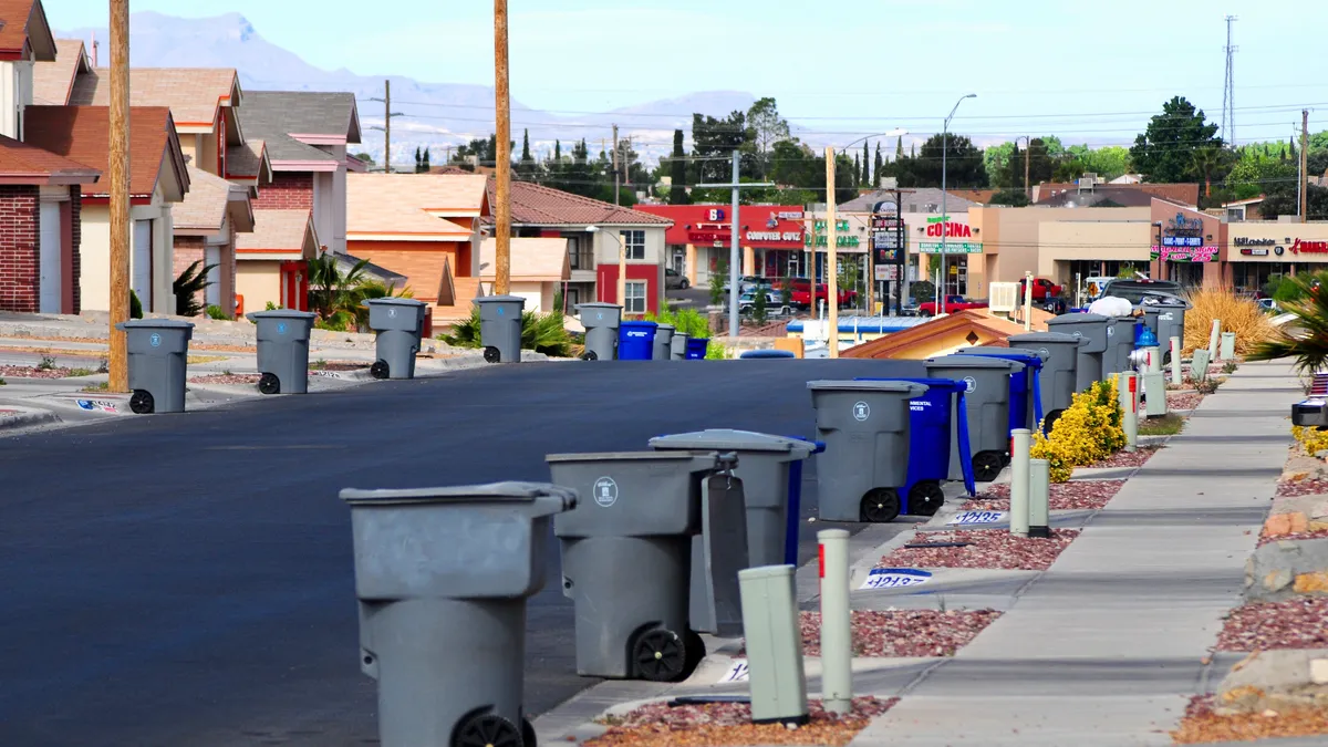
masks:
[[(1236, 12), (1236, 140), (1286, 137), (1309, 108), (1328, 129), (1320, 48), (1328, 3), (1204, 0), (510, 0), (511, 85), (555, 113), (697, 90), (774, 96), (835, 140), (895, 126), (975, 140), (1058, 133), (1129, 144), (1185, 94), (1218, 120), (1223, 16)], [(108, 0), (46, 0), (57, 28), (102, 25)], [(483, 0), (131, 0), (133, 11), (243, 13), (323, 68), (493, 84)]]

